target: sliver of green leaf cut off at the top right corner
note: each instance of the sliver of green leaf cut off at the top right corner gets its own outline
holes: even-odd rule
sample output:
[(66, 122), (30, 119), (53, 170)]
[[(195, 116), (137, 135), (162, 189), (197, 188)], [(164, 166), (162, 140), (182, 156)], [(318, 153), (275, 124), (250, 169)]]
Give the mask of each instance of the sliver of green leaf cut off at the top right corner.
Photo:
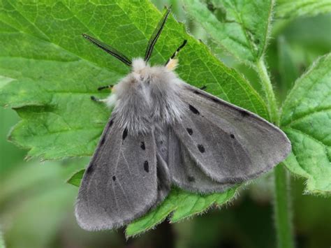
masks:
[(279, 0), (277, 1), (275, 17), (295, 18), (330, 12), (330, 0)]

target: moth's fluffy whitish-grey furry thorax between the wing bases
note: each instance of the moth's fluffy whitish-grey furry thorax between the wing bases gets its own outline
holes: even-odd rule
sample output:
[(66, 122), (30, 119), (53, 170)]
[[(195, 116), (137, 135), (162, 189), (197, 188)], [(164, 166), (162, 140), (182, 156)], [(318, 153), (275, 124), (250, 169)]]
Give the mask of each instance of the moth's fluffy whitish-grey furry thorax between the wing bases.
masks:
[(171, 124), (182, 114), (180, 80), (165, 66), (133, 59), (132, 71), (113, 87), (108, 105), (119, 125), (131, 133), (148, 132), (155, 124)]

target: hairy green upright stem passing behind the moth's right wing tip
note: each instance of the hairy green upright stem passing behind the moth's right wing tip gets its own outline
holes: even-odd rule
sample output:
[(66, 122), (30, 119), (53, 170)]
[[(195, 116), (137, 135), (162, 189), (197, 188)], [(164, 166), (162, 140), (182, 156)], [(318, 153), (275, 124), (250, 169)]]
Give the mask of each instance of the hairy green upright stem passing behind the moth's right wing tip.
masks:
[[(279, 126), (279, 109), (263, 58), (256, 63), (256, 71), (265, 92), (270, 121)], [(284, 164), (279, 163), (274, 168), (274, 220), (279, 248), (294, 248), (292, 214), (290, 211), (288, 176)]]

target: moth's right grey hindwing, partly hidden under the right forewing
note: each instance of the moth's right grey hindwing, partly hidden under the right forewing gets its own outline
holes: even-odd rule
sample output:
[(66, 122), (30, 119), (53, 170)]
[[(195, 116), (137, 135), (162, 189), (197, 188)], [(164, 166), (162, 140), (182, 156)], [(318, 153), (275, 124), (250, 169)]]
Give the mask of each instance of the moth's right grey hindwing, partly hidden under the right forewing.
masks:
[(168, 167), (172, 182), (187, 191), (206, 194), (222, 192), (235, 186), (235, 184), (216, 182), (208, 177), (191, 158), (189, 151), (172, 129), (168, 136)]

